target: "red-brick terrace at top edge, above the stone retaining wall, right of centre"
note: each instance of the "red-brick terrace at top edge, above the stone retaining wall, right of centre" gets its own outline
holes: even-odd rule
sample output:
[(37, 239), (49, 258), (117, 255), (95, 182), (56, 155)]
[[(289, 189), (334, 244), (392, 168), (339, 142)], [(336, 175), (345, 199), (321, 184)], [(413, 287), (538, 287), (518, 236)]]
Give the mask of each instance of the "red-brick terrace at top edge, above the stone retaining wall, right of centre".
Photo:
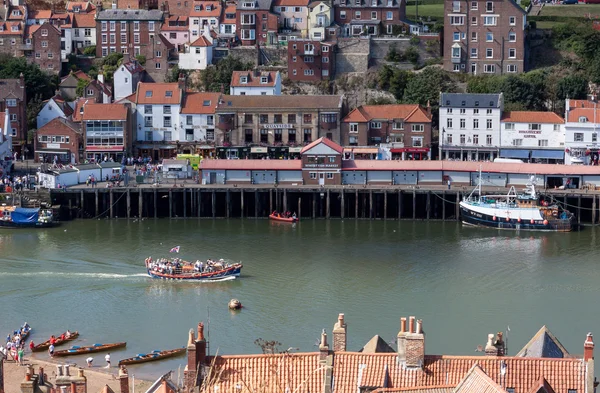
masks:
[(335, 22), (345, 37), (398, 34), (398, 28), (407, 24), (402, 0), (334, 0), (333, 5)]

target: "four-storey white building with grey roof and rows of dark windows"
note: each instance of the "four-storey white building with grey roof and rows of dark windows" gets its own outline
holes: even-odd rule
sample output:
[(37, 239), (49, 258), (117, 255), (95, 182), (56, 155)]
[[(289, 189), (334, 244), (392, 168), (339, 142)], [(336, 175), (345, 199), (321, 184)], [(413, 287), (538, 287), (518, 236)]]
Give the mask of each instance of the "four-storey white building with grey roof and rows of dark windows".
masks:
[(492, 161), (500, 150), (500, 94), (440, 94), (440, 158)]

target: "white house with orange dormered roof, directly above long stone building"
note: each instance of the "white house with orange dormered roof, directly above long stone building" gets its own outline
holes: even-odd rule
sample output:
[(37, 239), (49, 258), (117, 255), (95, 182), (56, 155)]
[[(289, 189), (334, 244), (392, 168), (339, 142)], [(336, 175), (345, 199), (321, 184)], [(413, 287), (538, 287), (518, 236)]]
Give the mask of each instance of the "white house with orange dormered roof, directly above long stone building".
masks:
[(279, 96), (279, 71), (233, 71), (229, 94), (232, 96)]

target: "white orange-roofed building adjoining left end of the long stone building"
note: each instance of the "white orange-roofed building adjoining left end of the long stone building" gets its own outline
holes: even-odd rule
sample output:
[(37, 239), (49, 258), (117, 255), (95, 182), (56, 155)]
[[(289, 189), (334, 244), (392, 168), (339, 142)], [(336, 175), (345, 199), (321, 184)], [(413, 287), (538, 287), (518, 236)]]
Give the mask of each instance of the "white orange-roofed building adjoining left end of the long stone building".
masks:
[(215, 109), (220, 93), (188, 93), (181, 109), (180, 141), (214, 141)]

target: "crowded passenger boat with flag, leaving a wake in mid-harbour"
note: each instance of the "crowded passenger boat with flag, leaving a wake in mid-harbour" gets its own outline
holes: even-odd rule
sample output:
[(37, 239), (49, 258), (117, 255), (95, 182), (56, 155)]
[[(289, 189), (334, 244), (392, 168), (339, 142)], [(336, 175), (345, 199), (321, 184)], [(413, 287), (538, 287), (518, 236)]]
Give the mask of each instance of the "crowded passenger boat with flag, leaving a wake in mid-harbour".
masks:
[(191, 263), (180, 258), (153, 260), (149, 257), (145, 263), (150, 277), (163, 280), (217, 281), (239, 277), (242, 271), (241, 263), (231, 264), (223, 259)]

